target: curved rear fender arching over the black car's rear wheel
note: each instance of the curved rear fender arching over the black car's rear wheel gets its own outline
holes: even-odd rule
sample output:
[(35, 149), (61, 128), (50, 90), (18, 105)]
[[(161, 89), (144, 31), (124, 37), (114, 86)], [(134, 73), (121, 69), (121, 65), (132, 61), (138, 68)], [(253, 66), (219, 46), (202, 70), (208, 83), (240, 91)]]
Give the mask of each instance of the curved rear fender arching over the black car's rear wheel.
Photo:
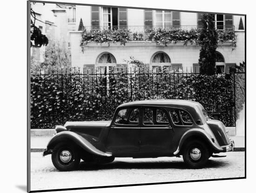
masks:
[(203, 129), (199, 129), (199, 128), (193, 128), (193, 129), (189, 129), (188, 131), (186, 131), (180, 141), (179, 141), (179, 145), (176, 149), (176, 151), (173, 153), (174, 155), (177, 155), (181, 148), (182, 145), (184, 144), (184, 142), (189, 139), (190, 137), (201, 137), (202, 139), (204, 139), (205, 141), (208, 142), (209, 146), (211, 146), (213, 149), (215, 149), (216, 151), (220, 151), (222, 152), (223, 149), (221, 146), (219, 146), (218, 142), (216, 141), (216, 139), (212, 140), (212, 138), (209, 136), (209, 134), (203, 130)]

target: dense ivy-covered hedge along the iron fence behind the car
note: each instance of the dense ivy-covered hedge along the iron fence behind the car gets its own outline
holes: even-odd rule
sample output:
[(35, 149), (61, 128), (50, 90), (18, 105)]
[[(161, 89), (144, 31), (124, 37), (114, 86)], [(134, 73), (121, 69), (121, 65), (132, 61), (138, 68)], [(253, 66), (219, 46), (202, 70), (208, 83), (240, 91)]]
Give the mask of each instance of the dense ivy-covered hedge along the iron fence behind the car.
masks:
[[(218, 112), (226, 126), (234, 126), (233, 79), (229, 74), (123, 72), (32, 75), (31, 128), (54, 128), (75, 120), (111, 120), (118, 105), (147, 99), (198, 101), (209, 115)], [(236, 81), (244, 95), (244, 85)], [(239, 95), (236, 92), (237, 114), (244, 101)]]

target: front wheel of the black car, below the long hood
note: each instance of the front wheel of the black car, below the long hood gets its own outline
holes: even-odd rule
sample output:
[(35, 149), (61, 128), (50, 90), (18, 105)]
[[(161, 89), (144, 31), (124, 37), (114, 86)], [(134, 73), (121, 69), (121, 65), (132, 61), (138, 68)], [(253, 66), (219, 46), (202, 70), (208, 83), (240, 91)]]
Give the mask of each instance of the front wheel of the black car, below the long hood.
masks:
[(52, 162), (60, 171), (71, 171), (78, 168), (80, 156), (74, 145), (60, 143), (54, 146)]

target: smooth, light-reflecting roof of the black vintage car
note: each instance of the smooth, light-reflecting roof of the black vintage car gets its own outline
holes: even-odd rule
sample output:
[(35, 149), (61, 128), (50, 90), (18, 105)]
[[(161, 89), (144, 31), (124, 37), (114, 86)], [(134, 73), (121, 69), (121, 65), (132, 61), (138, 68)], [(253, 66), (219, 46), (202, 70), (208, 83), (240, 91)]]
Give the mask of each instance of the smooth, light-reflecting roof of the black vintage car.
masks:
[(124, 103), (118, 107), (128, 107), (128, 106), (195, 107), (195, 106), (201, 106), (201, 104), (192, 100), (160, 99), (160, 100), (137, 100), (133, 102)]

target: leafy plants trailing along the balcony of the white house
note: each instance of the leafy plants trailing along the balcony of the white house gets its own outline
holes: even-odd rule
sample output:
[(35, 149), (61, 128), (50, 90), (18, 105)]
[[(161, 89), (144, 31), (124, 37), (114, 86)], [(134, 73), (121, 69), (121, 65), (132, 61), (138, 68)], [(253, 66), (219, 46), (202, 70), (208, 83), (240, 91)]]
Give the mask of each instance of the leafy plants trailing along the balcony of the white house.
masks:
[[(163, 44), (167, 46), (168, 44), (176, 44), (177, 42), (183, 42), (186, 46), (190, 44), (198, 44), (198, 37), (201, 29), (147, 29), (144, 33), (131, 32), (128, 29), (115, 29), (115, 30), (84, 30), (82, 33), (81, 47), (88, 44), (88, 42), (96, 43), (116, 43), (120, 42), (121, 45), (125, 45), (128, 41), (154, 41), (157, 45)], [(236, 47), (236, 35), (234, 30), (217, 31), (218, 41), (232, 41), (232, 49)]]

